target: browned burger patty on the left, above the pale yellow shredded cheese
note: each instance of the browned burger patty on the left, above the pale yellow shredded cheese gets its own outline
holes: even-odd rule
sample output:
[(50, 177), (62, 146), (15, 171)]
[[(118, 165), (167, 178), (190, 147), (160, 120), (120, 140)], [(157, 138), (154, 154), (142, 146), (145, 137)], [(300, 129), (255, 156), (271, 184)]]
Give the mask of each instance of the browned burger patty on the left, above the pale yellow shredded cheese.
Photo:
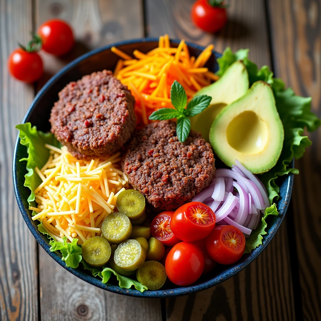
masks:
[(51, 110), (51, 132), (77, 158), (115, 153), (136, 125), (135, 99), (103, 70), (70, 82)]

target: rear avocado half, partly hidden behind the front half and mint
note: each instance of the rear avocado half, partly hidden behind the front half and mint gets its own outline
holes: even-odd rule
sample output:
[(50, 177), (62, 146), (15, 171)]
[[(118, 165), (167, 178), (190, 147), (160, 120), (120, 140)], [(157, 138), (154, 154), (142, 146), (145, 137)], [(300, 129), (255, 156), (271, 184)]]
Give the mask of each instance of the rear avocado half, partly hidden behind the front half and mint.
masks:
[(218, 113), (233, 101), (238, 100), (248, 90), (248, 74), (241, 61), (236, 61), (225, 71), (220, 79), (197, 91), (195, 96), (212, 97), (210, 105), (200, 114), (191, 117), (191, 128), (202, 134), (209, 142), (209, 131)]

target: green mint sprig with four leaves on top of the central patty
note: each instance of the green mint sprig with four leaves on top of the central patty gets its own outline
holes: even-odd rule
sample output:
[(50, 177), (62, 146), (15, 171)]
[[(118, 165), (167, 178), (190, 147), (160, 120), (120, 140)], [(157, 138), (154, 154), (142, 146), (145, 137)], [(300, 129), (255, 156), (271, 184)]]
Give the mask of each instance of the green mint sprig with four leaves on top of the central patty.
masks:
[[(193, 117), (207, 108), (212, 100), (211, 96), (200, 95), (194, 97), (187, 104), (187, 95), (183, 86), (174, 81), (170, 88), (170, 101), (174, 108), (161, 108), (152, 113), (150, 120), (167, 120), (177, 118), (176, 133), (178, 140), (184, 143), (191, 130), (191, 122), (188, 117)], [(187, 104), (187, 107), (186, 107)], [(186, 107), (186, 108), (185, 108)]]

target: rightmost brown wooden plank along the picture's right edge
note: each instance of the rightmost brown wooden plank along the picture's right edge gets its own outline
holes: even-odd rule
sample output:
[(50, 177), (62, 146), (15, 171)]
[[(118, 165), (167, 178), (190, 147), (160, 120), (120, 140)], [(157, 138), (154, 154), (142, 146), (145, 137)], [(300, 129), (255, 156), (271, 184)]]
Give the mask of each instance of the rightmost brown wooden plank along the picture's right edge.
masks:
[[(321, 117), (321, 2), (269, 1), (275, 73), (298, 95), (311, 96)], [(304, 320), (321, 320), (321, 130), (296, 162), (300, 174), (293, 190), (294, 227)]]

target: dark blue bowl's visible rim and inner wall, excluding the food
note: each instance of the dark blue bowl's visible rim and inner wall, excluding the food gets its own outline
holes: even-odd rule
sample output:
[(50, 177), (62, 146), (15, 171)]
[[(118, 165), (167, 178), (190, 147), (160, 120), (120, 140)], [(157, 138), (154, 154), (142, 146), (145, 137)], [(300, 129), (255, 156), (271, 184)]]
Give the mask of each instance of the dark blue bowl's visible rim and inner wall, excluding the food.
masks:
[[(178, 44), (179, 40), (171, 41), (172, 47), (177, 47)], [(142, 53), (146, 53), (158, 46), (158, 39), (144, 38), (123, 41), (114, 45), (93, 50), (75, 59), (73, 62), (66, 65), (56, 75), (54, 75), (39, 91), (35, 99), (32, 101), (26, 115), (24, 116), (22, 123), (30, 122), (32, 126), (37, 126), (38, 130), (49, 132), (51, 129), (49, 123), (50, 112), (51, 108), (54, 106), (54, 103), (58, 100), (58, 92), (61, 91), (66, 84), (70, 82), (76, 82), (85, 75), (105, 69), (114, 70), (115, 66), (117, 65), (118, 57), (111, 51), (112, 46), (117, 47), (129, 55), (132, 54), (134, 50), (139, 50)], [(199, 54), (204, 50), (203, 47), (188, 42), (187, 47), (190, 55), (195, 57), (199, 56)], [(209, 57), (205, 67), (212, 72), (216, 72), (218, 70), (216, 59), (220, 56), (221, 55), (217, 52), (212, 51), (212, 55)], [(219, 284), (220, 282), (241, 271), (265, 249), (280, 227), (291, 198), (293, 185), (293, 174), (282, 176), (281, 182), (279, 182), (280, 198), (276, 202), (279, 215), (270, 215), (270, 217), (267, 219), (267, 227), (265, 229), (266, 234), (263, 235), (262, 245), (253, 249), (251, 253), (244, 254), (236, 264), (219, 265), (214, 271), (206, 275), (202, 275), (190, 286), (178, 287), (173, 283), (166, 282), (160, 290), (147, 290), (140, 292), (134, 290), (133, 288), (120, 288), (117, 285), (116, 278), (109, 280), (110, 283), (108, 282), (104, 284), (99, 278), (94, 277), (88, 270), (83, 270), (81, 265), (76, 269), (67, 267), (65, 262), (61, 260), (62, 256), (60, 252), (51, 252), (49, 250), (50, 245), (48, 244), (48, 239), (42, 233), (40, 233), (37, 228), (39, 222), (31, 220), (31, 211), (29, 210), (28, 204), (30, 189), (24, 186), (24, 176), (27, 173), (27, 170), (25, 164), (23, 162), (19, 162), (19, 160), (24, 157), (27, 157), (26, 147), (20, 144), (20, 138), (18, 136), (15, 143), (13, 157), (13, 181), (15, 195), (22, 216), (38, 243), (57, 263), (80, 279), (108, 291), (139, 297), (170, 297), (186, 295), (196, 291), (205, 290), (209, 287)], [(218, 167), (217, 164), (215, 165)], [(291, 166), (293, 167), (293, 162)]]

